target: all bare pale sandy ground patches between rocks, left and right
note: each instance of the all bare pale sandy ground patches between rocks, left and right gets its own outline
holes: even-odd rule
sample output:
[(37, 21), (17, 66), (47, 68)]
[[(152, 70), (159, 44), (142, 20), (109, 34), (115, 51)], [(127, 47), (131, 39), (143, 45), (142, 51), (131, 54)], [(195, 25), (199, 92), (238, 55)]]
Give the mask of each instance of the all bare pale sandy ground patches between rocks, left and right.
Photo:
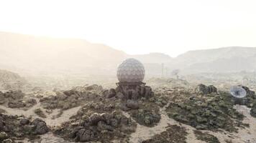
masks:
[[(168, 107), (165, 106), (165, 107)], [(155, 127), (145, 127), (140, 124), (137, 124), (137, 130), (136, 132), (131, 134), (130, 137), (130, 142), (132, 143), (140, 143), (145, 139), (150, 139), (153, 137), (155, 134), (160, 134), (161, 132), (164, 132), (166, 129), (165, 127), (168, 127), (168, 124), (171, 125), (178, 125), (181, 127), (186, 127), (186, 130), (188, 132), (187, 139), (186, 141), (188, 143), (204, 143), (201, 140), (196, 139), (195, 134), (193, 133), (193, 130), (195, 128), (188, 126), (186, 124), (180, 124), (179, 122), (176, 122), (174, 119), (170, 119), (167, 114), (165, 113), (165, 107), (160, 109), (161, 113), (161, 119), (160, 122), (157, 124)], [(40, 103), (36, 104), (34, 107), (31, 109), (28, 109), (27, 111), (24, 111), (22, 109), (10, 109), (7, 107), (4, 107), (0, 105), (0, 109), (6, 110), (7, 114), (12, 114), (12, 115), (24, 115), (25, 117), (32, 117), (32, 119), (37, 118), (38, 116), (34, 113), (35, 109), (40, 108)], [(81, 107), (75, 107), (72, 109), (68, 109), (63, 111), (63, 114), (56, 118), (52, 119), (56, 114), (60, 112), (59, 109), (55, 109), (52, 111), (51, 114), (47, 114), (47, 118), (43, 119), (47, 123), (48, 126), (53, 127), (53, 126), (58, 126), (63, 122), (67, 122), (68, 119), (76, 114), (78, 112), (78, 109)], [(42, 109), (42, 108), (41, 108)], [(215, 137), (219, 139), (220, 142), (232, 142), (232, 143), (256, 143), (256, 119), (254, 117), (251, 117), (250, 115), (250, 109), (245, 107), (245, 106), (235, 106), (234, 109), (237, 109), (238, 112), (241, 112), (244, 114), (244, 123), (250, 124), (249, 128), (246, 129), (239, 129), (238, 133), (229, 133), (229, 132), (211, 132), (211, 131), (205, 131), (202, 130), (202, 132), (208, 132), (209, 134), (213, 134)], [(45, 109), (42, 109), (45, 112)], [(127, 112), (123, 112), (125, 116), (129, 117), (129, 114)], [(42, 139), (40, 139), (41, 143), (46, 143), (46, 142), (63, 142), (63, 143), (68, 143), (68, 141), (65, 141), (64, 139), (61, 139), (59, 137), (55, 137), (51, 132), (44, 134), (41, 136)], [(24, 140), (23, 142), (29, 142), (28, 140)]]

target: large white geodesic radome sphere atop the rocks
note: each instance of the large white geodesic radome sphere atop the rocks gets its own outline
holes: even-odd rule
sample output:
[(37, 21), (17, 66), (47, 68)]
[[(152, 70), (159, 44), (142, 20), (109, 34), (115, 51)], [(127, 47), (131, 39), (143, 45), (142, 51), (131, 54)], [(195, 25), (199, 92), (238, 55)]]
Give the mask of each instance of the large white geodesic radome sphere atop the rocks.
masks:
[(137, 59), (126, 59), (118, 66), (117, 78), (119, 82), (142, 82), (145, 68)]

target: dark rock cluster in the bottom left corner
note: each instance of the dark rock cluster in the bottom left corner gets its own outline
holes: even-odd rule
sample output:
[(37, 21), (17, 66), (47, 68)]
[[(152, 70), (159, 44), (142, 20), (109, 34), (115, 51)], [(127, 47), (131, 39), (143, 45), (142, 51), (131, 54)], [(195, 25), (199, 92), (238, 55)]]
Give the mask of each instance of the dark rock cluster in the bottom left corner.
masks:
[(41, 119), (34, 119), (31, 122), (24, 117), (0, 114), (0, 131), (3, 132), (3, 134), (8, 134), (8, 138), (10, 139), (29, 138), (35, 135), (45, 134), (49, 130), (47, 124)]

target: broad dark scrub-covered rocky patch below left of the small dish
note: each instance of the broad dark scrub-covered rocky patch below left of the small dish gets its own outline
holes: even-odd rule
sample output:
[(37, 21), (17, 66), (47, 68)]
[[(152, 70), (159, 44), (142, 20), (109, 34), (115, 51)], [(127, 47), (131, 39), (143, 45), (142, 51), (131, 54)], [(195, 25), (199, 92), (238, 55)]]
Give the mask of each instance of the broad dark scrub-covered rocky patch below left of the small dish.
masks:
[(209, 96), (184, 97), (179, 102), (171, 102), (167, 107), (168, 116), (189, 124), (196, 129), (224, 129), (235, 132), (242, 124), (243, 115), (233, 109), (234, 102), (229, 93), (209, 94)]

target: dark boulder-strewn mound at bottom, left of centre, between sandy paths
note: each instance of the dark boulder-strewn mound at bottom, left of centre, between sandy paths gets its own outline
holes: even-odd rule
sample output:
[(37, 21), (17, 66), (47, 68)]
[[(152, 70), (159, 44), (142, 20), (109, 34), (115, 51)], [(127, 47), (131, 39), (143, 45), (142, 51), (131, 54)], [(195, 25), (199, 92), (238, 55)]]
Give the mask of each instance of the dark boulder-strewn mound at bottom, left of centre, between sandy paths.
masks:
[(93, 113), (79, 124), (64, 124), (55, 131), (66, 139), (76, 142), (109, 142), (114, 138), (124, 138), (134, 132), (136, 124), (121, 112)]

